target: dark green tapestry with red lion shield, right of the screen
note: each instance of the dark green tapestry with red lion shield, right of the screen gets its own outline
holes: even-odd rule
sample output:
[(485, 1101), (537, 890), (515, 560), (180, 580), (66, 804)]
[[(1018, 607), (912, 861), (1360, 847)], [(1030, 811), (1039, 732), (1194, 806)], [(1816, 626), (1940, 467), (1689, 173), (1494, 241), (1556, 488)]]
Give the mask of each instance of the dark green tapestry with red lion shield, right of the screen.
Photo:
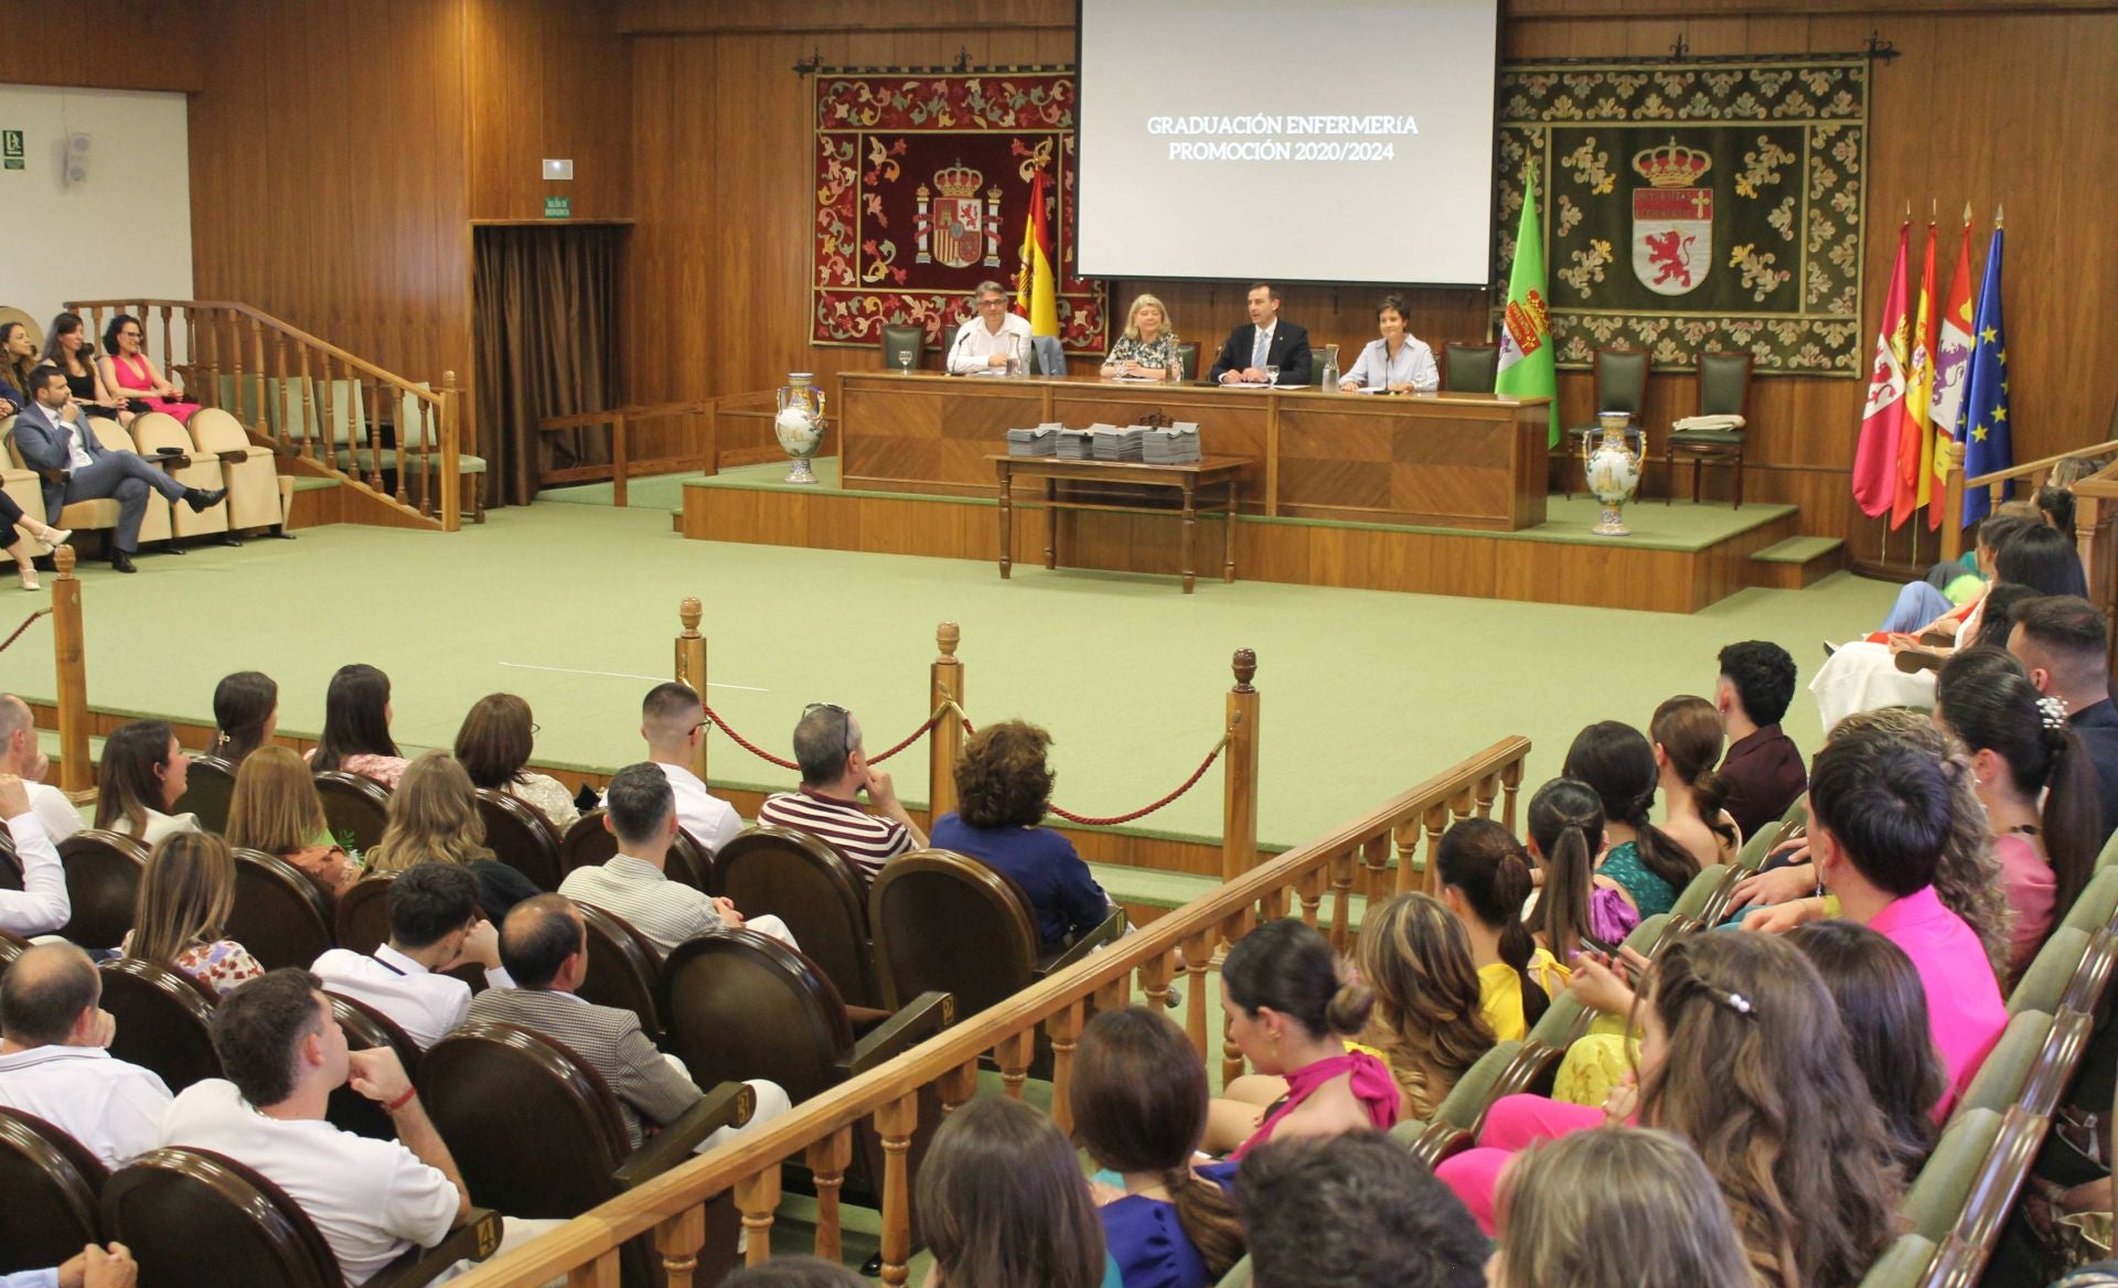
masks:
[(1506, 64), (1495, 299), (1538, 180), (1559, 366), (1866, 375), (1868, 59)]

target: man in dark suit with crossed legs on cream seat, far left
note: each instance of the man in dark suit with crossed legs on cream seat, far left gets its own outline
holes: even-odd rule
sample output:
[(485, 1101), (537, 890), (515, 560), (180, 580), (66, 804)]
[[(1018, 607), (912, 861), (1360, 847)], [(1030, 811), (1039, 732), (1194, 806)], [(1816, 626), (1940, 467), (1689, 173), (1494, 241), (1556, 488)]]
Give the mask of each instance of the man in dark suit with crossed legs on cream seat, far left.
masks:
[[(184, 487), (138, 451), (104, 447), (57, 366), (30, 373), (30, 405), (15, 415), (15, 445), (32, 470), (44, 472), (44, 515), (57, 517), (76, 500), (116, 498), (119, 532), (110, 542), (110, 566), (119, 572), (133, 572), (150, 487), (193, 511), (218, 506), (229, 496), (227, 487)], [(51, 470), (59, 479), (51, 479)]]

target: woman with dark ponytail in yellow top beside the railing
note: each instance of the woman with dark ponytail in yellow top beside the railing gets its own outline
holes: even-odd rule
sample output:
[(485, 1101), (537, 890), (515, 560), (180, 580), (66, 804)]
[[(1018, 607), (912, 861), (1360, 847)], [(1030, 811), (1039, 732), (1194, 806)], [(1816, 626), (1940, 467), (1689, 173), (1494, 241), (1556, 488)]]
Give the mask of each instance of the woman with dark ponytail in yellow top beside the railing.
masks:
[[(1523, 926), (1531, 892), (1529, 856), (1491, 818), (1466, 818), (1442, 833), (1434, 864), (1442, 902), (1470, 936), (1485, 1021), (1502, 1042), (1525, 1036), (1552, 1004), (1552, 994), (1565, 987), (1559, 960), (1538, 947)], [(1370, 928), (1362, 926), (1362, 979), (1372, 985), (1368, 934)]]

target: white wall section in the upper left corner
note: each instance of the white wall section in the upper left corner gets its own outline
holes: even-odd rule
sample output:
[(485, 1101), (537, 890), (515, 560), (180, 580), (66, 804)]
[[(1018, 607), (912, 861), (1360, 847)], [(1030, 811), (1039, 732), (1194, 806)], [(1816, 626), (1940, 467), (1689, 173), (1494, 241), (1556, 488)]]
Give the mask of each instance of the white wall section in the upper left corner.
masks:
[[(42, 330), (70, 299), (191, 299), (182, 93), (0, 85), (0, 129), (21, 129), (25, 153), (23, 169), (0, 169), (0, 305)], [(91, 140), (89, 176), (72, 186), (70, 131)]]

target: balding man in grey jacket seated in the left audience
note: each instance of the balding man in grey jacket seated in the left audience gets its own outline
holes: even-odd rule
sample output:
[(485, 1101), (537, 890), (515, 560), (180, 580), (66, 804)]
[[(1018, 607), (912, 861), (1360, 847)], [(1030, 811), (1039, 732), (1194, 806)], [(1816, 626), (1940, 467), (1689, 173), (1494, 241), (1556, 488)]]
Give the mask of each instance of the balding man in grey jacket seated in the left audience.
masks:
[[(638, 1015), (574, 996), (589, 974), (589, 928), (568, 896), (540, 894), (515, 905), (500, 924), (500, 964), (515, 987), (472, 998), (470, 1019), (521, 1025), (589, 1061), (618, 1097), (625, 1135), (635, 1148), (642, 1121), (671, 1123), (705, 1095), (674, 1055), (657, 1051), (640, 1032)], [(699, 1152), (788, 1112), (788, 1093), (777, 1083), (750, 1078), (748, 1085), (756, 1091), (756, 1112), (741, 1127), (707, 1135)]]

